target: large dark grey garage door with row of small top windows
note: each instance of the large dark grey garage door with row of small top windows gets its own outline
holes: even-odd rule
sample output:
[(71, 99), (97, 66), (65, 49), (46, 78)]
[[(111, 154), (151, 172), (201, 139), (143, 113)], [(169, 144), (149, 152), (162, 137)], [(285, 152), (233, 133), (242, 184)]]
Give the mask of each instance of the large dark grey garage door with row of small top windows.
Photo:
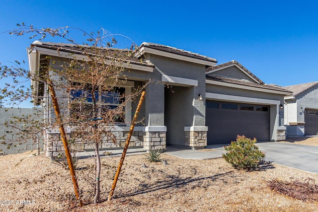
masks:
[(237, 135), (270, 141), (270, 107), (233, 102), (206, 102), (208, 144), (231, 143)]

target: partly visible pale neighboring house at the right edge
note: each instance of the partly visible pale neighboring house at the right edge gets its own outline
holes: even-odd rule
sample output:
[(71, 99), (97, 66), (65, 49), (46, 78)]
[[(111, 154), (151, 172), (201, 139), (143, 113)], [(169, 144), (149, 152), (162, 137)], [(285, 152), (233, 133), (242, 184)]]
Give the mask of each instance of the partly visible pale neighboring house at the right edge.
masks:
[(318, 135), (318, 81), (284, 87), (287, 136)]

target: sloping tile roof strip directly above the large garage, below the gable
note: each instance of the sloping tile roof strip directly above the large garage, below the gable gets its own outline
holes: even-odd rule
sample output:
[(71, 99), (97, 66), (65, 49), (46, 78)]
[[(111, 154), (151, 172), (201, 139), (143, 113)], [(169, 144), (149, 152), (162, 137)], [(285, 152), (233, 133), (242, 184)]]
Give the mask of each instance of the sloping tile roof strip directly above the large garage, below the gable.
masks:
[(215, 75), (206, 75), (207, 79), (214, 80), (214, 81), (220, 81), (220, 82), (227, 82), (231, 84), (238, 84), (238, 85), (246, 85), (250, 87), (256, 87), (256, 88), (265, 88), (275, 91), (283, 91), (283, 92), (290, 92), (288, 89), (278, 86), (278, 85), (269, 85), (269, 84), (258, 84), (255, 82), (245, 81), (245, 80), (239, 80), (239, 79), (233, 79), (233, 78), (227, 78), (223, 76), (215, 76)]

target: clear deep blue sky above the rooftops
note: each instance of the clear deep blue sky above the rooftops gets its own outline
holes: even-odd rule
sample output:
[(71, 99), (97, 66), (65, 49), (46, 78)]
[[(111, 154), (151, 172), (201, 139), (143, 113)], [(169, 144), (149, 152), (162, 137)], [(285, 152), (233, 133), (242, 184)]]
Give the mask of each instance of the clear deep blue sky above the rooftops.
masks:
[[(1, 0), (0, 8), (0, 33), (21, 22), (87, 32), (104, 28), (138, 45), (173, 46), (218, 64), (237, 60), (268, 84), (318, 81), (316, 0)], [(34, 40), (0, 34), (0, 62), (27, 61), (26, 47)], [(119, 39), (118, 48), (126, 43)]]

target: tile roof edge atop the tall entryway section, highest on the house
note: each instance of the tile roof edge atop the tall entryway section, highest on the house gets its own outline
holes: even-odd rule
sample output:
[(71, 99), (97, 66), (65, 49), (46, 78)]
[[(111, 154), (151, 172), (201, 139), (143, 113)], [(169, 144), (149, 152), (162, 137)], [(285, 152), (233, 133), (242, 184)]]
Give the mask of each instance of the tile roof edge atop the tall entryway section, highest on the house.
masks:
[(148, 48), (152, 48), (152, 49), (156, 49), (156, 50), (160, 50), (160, 51), (164, 51), (164, 52), (169, 52), (169, 53), (173, 53), (173, 54), (177, 54), (177, 55), (182, 55), (182, 56), (185, 56), (185, 57), (200, 59), (200, 60), (214, 62), (214, 63), (218, 62), (215, 58), (210, 58), (210, 57), (207, 57), (207, 56), (204, 56), (204, 55), (200, 55), (198, 53), (186, 51), (186, 50), (183, 50), (183, 49), (178, 49), (178, 48), (171, 47), (171, 46), (166, 46), (166, 45), (161, 45), (161, 44), (156, 44), (156, 43), (150, 43), (150, 42), (142, 43), (140, 45), (140, 48), (142, 48), (143, 46), (147, 46)]

